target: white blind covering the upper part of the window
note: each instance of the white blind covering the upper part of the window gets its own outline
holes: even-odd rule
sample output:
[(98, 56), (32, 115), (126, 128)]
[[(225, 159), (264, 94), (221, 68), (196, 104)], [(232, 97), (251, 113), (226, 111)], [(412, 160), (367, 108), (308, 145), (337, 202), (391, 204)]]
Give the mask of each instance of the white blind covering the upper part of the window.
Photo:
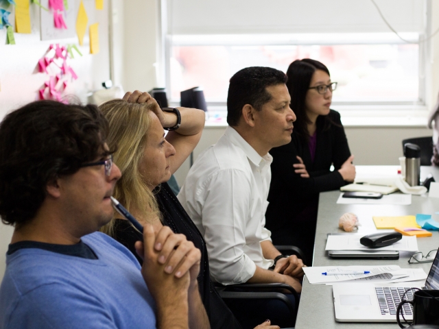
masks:
[[(167, 0), (169, 34), (390, 32), (370, 0)], [(397, 32), (425, 32), (425, 1), (375, 0)]]

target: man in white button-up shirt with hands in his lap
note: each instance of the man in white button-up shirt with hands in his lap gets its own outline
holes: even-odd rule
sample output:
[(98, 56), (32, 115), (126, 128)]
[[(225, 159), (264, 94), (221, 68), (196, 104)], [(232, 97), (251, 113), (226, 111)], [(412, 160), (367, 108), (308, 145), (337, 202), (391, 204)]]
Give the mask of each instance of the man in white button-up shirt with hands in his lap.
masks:
[[(296, 116), (285, 73), (248, 67), (230, 79), (227, 127), (191, 167), (178, 199), (204, 235), (222, 284), (286, 283), (301, 291), (302, 260), (283, 256), (265, 228), (272, 147), (291, 141)], [(274, 270), (269, 268), (275, 265)]]

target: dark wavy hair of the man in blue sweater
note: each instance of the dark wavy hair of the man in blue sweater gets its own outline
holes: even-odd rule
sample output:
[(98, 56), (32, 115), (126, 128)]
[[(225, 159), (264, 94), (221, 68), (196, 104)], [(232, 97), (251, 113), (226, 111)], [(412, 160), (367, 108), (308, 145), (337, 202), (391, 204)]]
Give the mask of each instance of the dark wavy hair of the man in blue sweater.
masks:
[(0, 216), (21, 225), (36, 216), (46, 186), (104, 149), (108, 123), (96, 106), (34, 101), (0, 123)]

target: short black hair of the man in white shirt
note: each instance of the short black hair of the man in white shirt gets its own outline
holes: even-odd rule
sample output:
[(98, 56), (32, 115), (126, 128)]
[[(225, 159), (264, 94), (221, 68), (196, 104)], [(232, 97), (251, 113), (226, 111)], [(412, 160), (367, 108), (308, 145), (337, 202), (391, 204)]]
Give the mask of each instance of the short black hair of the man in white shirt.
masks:
[(242, 69), (230, 78), (227, 95), (227, 123), (237, 126), (242, 116), (242, 108), (250, 104), (257, 111), (272, 99), (266, 90), (269, 86), (285, 84), (287, 76), (271, 67), (252, 66)]

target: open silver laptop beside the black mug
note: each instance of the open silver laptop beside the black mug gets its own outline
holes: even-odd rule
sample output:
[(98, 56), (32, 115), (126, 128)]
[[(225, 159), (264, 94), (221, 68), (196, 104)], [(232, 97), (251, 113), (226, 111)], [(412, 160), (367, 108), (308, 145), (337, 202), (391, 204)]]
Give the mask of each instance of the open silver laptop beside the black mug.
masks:
[[(403, 293), (410, 288), (439, 289), (439, 252), (436, 252), (433, 264), (425, 281), (425, 286), (401, 282), (400, 284), (333, 284), (335, 321), (340, 322), (396, 322), (396, 308)], [(403, 285), (402, 285), (403, 284)], [(413, 298), (414, 290), (405, 295), (406, 300)], [(413, 319), (410, 304), (405, 304), (404, 317)], [(400, 316), (401, 317), (401, 316)]]

